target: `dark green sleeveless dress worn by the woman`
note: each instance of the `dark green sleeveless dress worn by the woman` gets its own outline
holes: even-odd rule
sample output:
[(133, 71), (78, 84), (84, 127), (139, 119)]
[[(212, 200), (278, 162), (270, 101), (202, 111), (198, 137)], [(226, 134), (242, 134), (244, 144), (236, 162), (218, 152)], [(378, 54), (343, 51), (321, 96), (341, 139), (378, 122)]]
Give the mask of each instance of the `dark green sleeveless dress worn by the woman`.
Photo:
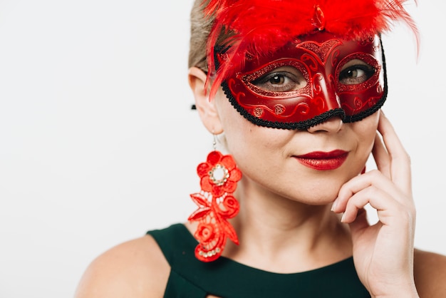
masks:
[(165, 298), (370, 298), (361, 284), (353, 258), (308, 272), (266, 272), (219, 257), (195, 258), (197, 240), (182, 224), (147, 232), (160, 245), (171, 270)]

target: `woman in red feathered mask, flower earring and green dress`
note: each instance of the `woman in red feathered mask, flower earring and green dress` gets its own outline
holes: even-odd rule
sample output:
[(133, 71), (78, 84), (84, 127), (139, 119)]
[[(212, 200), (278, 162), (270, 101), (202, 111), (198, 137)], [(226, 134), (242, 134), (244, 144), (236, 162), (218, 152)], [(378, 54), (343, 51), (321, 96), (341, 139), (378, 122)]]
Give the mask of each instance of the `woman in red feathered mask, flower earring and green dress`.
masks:
[(187, 223), (105, 252), (76, 297), (445, 297), (446, 257), (413, 247), (410, 159), (380, 111), (379, 34), (416, 33), (402, 2), (195, 1), (189, 82), (227, 154), (197, 167)]

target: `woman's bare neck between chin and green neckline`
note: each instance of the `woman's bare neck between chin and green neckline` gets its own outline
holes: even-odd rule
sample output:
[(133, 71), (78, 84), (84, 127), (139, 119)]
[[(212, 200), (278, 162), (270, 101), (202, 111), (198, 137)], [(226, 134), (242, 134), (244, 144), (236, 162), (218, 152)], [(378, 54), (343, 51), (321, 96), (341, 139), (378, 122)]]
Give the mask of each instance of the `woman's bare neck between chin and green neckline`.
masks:
[(350, 257), (348, 227), (329, 205), (306, 205), (240, 184), (240, 211), (232, 220), (240, 245), (224, 255), (271, 272), (303, 272)]

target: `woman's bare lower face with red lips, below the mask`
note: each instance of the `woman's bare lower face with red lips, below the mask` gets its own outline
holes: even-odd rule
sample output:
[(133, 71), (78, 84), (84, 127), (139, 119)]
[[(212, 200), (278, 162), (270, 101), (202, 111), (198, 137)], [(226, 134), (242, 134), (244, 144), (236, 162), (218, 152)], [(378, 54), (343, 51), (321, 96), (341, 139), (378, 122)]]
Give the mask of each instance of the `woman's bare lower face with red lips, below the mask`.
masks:
[(361, 173), (373, 148), (379, 111), (354, 123), (333, 117), (307, 130), (266, 128), (246, 120), (222, 91), (214, 98), (227, 140), (247, 182), (309, 205), (333, 202)]

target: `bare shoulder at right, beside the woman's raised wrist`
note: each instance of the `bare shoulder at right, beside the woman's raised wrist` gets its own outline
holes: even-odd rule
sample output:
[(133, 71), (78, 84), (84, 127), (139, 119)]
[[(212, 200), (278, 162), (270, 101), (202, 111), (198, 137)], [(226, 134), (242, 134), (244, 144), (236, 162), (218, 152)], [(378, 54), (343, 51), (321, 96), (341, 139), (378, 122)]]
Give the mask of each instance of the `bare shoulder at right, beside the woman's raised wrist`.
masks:
[(415, 284), (421, 298), (446, 297), (446, 256), (415, 250)]

